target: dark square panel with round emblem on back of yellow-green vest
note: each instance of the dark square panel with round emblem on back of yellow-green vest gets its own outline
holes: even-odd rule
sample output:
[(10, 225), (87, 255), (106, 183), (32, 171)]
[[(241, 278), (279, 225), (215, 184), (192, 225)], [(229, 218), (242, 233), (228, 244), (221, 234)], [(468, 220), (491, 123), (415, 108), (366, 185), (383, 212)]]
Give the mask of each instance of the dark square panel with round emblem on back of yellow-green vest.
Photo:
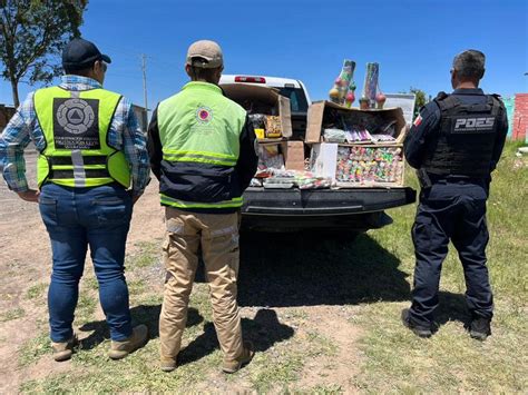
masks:
[(53, 99), (55, 147), (100, 149), (99, 100)]

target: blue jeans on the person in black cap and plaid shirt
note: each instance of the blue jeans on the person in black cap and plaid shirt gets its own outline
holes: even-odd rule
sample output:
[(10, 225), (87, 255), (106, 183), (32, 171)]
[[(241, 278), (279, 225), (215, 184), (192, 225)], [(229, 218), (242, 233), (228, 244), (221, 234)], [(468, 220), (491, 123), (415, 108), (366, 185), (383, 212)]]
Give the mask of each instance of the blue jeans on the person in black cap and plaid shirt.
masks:
[(74, 334), (71, 324), (88, 246), (110, 337), (129, 337), (131, 322), (124, 261), (130, 195), (117, 185), (70, 188), (49, 182), (41, 188), (39, 208), (53, 255), (48, 292), (51, 340), (66, 342)]

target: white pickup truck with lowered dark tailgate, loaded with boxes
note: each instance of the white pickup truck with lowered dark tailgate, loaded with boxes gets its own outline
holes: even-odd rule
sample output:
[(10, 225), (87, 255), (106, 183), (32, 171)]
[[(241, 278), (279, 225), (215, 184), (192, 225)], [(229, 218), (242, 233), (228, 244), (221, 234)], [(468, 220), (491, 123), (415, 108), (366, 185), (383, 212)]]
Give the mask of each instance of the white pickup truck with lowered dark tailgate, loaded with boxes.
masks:
[[(310, 96), (295, 79), (261, 76), (222, 76), (219, 85), (273, 87), (290, 99), (292, 139), (304, 140)], [(415, 201), (409, 187), (346, 189), (265, 189), (250, 187), (244, 194), (242, 225), (267, 231), (301, 229), (346, 229), (351, 235), (392, 223), (385, 209)]]

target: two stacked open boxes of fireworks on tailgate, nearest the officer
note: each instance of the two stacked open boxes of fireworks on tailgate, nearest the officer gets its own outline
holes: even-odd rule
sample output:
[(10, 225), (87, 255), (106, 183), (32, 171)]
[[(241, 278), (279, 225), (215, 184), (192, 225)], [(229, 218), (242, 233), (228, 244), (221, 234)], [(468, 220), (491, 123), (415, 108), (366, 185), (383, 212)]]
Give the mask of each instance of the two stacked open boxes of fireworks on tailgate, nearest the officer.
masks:
[[(346, 119), (346, 125), (364, 124), (372, 129), (383, 129), (383, 135), (368, 130), (361, 141), (327, 142), (324, 130), (335, 130), (335, 124)], [(339, 126), (339, 125), (338, 125)], [(381, 126), (381, 127), (378, 127)], [(363, 127), (362, 127), (363, 128)], [(309, 109), (306, 144), (312, 145), (310, 164), (316, 175), (332, 179), (338, 187), (401, 187), (403, 186), (403, 137), (407, 130), (400, 108), (365, 109), (346, 108), (330, 101), (317, 101)], [(345, 135), (346, 130), (343, 130)], [(382, 136), (383, 138), (377, 138)]]

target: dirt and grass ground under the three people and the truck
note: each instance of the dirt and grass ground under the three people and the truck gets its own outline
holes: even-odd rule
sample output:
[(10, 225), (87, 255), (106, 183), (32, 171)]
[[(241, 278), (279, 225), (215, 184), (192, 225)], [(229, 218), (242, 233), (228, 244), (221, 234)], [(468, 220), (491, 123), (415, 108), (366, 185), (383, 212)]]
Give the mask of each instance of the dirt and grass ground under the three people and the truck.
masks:
[[(38, 206), (0, 182), (0, 393), (526, 394), (528, 210), (518, 186), (527, 184), (528, 162), (516, 150), (507, 145), (488, 204), (496, 315), (487, 342), (471, 339), (465, 329), (465, 277), (454, 250), (442, 267), (438, 333), (420, 339), (401, 325), (414, 267), (409, 233), (415, 207), (409, 205), (390, 210), (391, 226), (353, 243), (324, 231), (242, 234), (238, 304), (244, 337), (256, 355), (228, 376), (219, 372), (222, 353), (201, 270), (178, 368), (159, 369), (165, 273), (156, 181), (135, 207), (126, 257), (133, 320), (149, 327), (149, 342), (123, 362), (108, 359), (108, 330), (88, 263), (75, 322), (82, 349), (55, 363), (46, 303), (48, 235)], [(35, 159), (28, 156), (27, 166), (33, 184)], [(412, 175), (409, 185), (418, 186)], [(511, 207), (521, 209), (511, 216)]]

